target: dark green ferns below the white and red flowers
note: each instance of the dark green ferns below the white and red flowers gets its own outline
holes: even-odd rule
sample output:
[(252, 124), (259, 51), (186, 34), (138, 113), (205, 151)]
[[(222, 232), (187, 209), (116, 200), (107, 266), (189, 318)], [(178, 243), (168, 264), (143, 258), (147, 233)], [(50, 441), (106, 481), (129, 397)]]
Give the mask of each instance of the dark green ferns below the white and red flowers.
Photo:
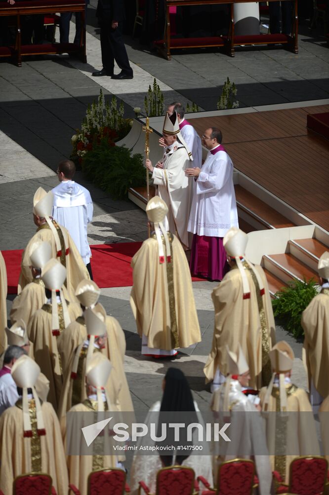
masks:
[(131, 156), (124, 146), (110, 146), (103, 138), (82, 158), (82, 170), (86, 178), (108, 193), (113, 199), (127, 197), (131, 186), (145, 186), (146, 170), (143, 156)]

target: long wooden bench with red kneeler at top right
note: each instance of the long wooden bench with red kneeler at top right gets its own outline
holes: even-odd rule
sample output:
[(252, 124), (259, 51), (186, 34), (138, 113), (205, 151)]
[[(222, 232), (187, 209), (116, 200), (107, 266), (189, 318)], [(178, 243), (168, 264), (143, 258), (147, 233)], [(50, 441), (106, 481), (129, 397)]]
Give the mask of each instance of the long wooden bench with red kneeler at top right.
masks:
[[(247, 3), (249, 0), (165, 0), (166, 8), (166, 28), (164, 40), (155, 42), (158, 51), (170, 60), (172, 49), (182, 48), (206, 48), (224, 47), (228, 55), (234, 56), (234, 47), (240, 45), (287, 45), (293, 53), (298, 53), (298, 15), (297, 0), (294, 0), (294, 15), (292, 20), (291, 36), (284, 34), (257, 34), (247, 36), (234, 35), (234, 3)], [(275, 0), (268, 0), (275, 1)], [(289, 0), (283, 0), (289, 1)], [(171, 38), (170, 35), (170, 14), (169, 8), (172, 6), (184, 5), (204, 5), (204, 4), (230, 4), (230, 20), (228, 26), (228, 36), (213, 36), (205, 38)]]

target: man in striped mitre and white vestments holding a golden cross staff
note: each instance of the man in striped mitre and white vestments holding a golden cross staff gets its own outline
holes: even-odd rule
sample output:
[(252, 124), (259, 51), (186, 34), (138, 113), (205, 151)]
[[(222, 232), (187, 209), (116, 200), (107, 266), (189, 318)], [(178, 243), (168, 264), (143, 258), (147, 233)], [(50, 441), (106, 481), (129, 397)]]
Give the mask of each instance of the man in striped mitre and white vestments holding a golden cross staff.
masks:
[(192, 153), (187, 147), (179, 131), (177, 113), (164, 118), (163, 129), (164, 156), (153, 167), (147, 159), (146, 167), (152, 172), (153, 184), (157, 186), (157, 195), (168, 206), (168, 214), (164, 228), (177, 235), (185, 249), (191, 247), (191, 236), (187, 232), (187, 224), (191, 209), (193, 186), (192, 179), (185, 175), (185, 169), (193, 160)]

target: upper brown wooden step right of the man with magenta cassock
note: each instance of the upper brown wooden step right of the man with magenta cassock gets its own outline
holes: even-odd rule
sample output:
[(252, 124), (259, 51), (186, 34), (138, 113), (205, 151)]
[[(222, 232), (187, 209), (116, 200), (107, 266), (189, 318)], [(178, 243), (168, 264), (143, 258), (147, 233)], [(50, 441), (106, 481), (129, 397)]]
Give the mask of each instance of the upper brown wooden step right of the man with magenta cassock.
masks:
[(254, 216), (265, 226), (265, 228), (279, 229), (295, 226), (288, 218), (281, 215), (281, 213), (274, 208), (271, 208), (271, 206), (261, 199), (256, 198), (239, 184), (235, 186), (235, 195), (238, 207), (249, 212), (249, 214)]

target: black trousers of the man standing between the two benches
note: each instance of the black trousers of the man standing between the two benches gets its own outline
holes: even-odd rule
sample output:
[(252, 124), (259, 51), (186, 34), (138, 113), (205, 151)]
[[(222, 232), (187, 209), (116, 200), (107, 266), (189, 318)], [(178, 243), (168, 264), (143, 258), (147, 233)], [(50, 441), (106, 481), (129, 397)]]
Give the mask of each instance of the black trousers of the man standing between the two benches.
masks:
[(122, 23), (119, 22), (118, 27), (112, 29), (111, 21), (105, 21), (101, 18), (98, 20), (104, 69), (113, 73), (115, 60), (123, 72), (132, 76), (132, 68), (129, 65), (127, 51), (123, 43)]

